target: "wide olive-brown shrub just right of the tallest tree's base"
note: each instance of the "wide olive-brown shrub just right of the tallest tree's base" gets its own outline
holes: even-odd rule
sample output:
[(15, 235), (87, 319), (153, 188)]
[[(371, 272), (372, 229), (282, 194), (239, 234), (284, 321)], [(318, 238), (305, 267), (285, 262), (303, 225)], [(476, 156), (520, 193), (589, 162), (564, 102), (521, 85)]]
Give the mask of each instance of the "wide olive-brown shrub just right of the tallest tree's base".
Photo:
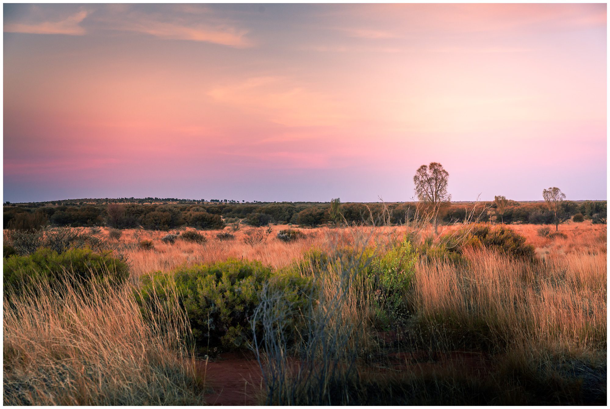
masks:
[(465, 226), (454, 233), (440, 237), (448, 252), (462, 253), (467, 247), (485, 247), (517, 258), (534, 259), (534, 246), (526, 243), (525, 236), (511, 228), (479, 224)]

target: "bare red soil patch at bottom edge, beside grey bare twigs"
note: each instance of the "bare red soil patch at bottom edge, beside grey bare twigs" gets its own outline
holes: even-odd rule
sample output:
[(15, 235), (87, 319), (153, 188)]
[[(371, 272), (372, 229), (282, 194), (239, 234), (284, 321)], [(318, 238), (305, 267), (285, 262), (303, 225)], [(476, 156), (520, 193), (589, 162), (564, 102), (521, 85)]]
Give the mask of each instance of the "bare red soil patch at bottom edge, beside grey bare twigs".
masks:
[(223, 353), (213, 361), (200, 361), (198, 370), (213, 390), (208, 405), (256, 405), (262, 387), (259, 363), (252, 355)]

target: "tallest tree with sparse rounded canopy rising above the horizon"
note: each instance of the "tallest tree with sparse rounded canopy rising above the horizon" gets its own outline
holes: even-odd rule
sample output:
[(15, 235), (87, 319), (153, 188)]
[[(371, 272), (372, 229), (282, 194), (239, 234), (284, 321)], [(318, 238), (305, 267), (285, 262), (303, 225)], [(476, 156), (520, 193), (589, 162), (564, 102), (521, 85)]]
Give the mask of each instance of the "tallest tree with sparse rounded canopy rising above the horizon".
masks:
[(432, 208), (434, 234), (439, 233), (440, 206), (451, 199), (451, 195), (447, 193), (448, 179), (449, 173), (437, 162), (420, 166), (413, 176), (418, 199)]

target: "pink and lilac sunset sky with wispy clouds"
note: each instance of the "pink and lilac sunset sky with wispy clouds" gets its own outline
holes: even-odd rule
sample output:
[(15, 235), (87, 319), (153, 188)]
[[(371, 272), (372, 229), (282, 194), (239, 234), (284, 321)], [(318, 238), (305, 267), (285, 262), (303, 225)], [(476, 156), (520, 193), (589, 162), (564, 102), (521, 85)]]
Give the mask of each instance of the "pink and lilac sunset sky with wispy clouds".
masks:
[(4, 4), (4, 201), (606, 200), (606, 4)]

